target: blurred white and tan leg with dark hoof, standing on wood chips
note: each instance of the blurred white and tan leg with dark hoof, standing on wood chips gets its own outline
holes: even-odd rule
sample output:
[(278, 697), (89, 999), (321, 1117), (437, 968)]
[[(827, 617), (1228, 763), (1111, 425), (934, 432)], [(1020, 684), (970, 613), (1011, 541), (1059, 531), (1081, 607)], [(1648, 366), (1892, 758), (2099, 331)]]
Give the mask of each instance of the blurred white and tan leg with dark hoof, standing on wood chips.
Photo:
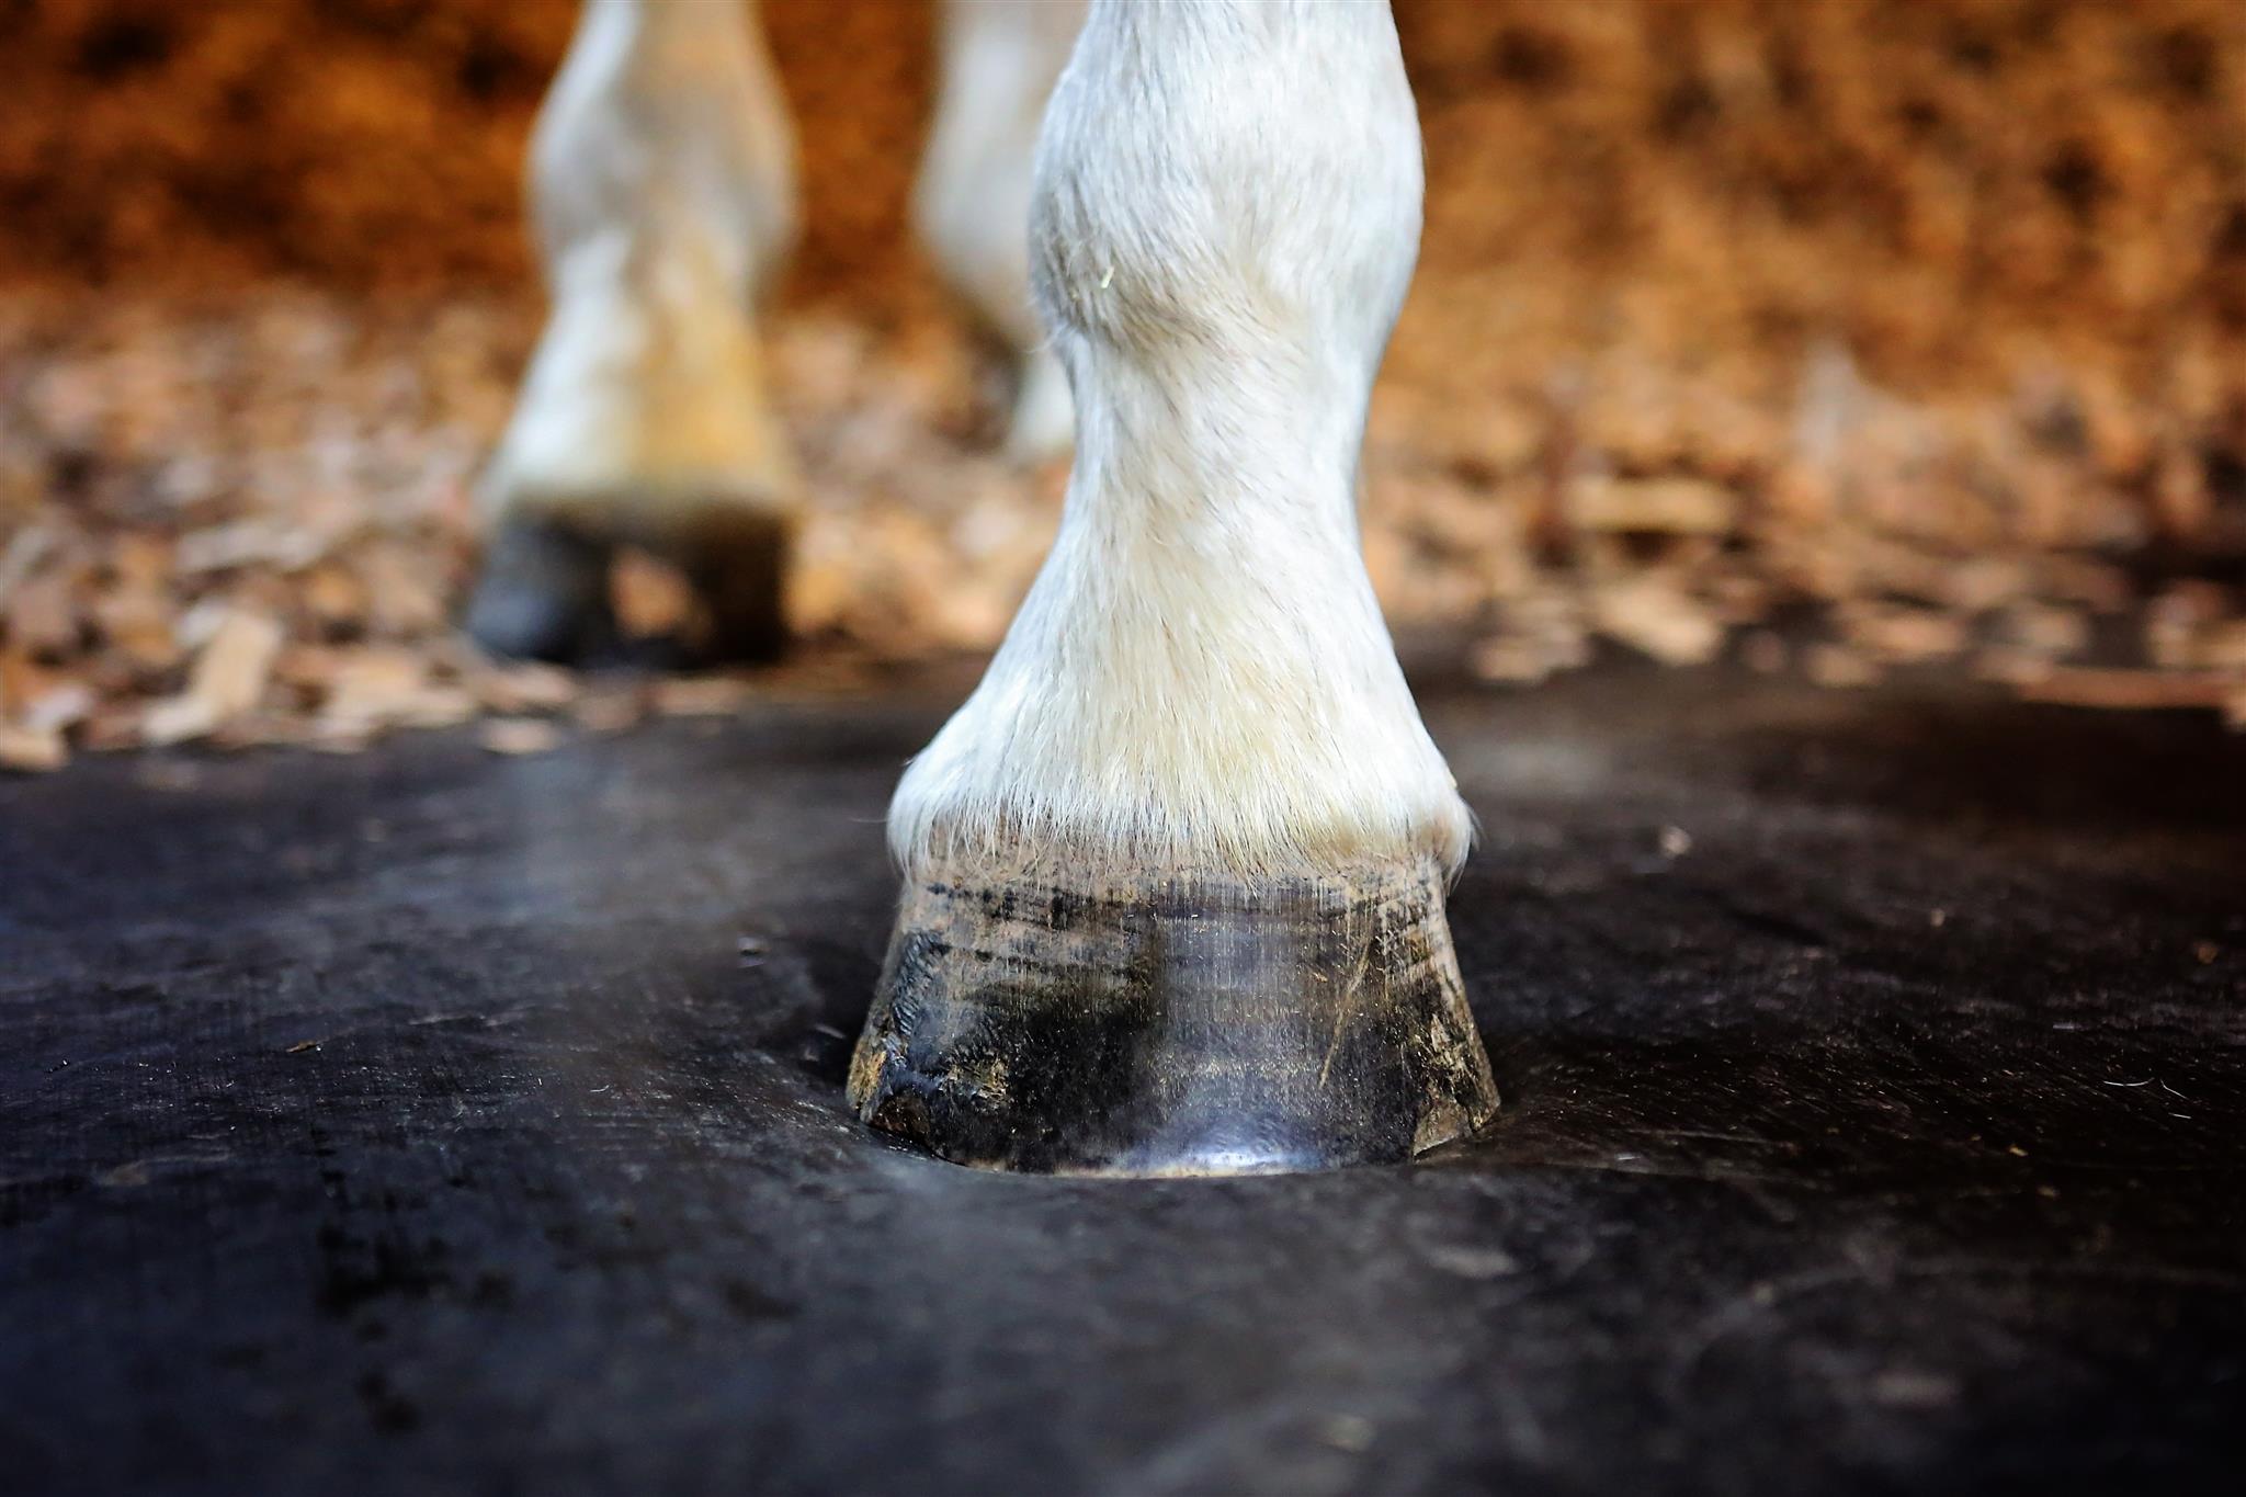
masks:
[(595, 644), (620, 541), (687, 570), (723, 653), (779, 644), (795, 469), (750, 314), (795, 233), (793, 157), (739, 0), (586, 0), (530, 150), (553, 312), (483, 480), (487, 646)]

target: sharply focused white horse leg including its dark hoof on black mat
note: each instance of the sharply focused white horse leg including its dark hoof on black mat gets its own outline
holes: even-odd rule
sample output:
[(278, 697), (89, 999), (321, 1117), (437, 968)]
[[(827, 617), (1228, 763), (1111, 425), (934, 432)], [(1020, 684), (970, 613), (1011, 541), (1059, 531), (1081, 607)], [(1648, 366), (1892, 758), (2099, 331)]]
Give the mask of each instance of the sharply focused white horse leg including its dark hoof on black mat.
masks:
[(892, 806), (876, 1127), (1195, 1174), (1399, 1160), (1496, 1106), (1442, 907), (1469, 817), (1354, 514), (1417, 238), (1384, 2), (1094, 0), (1031, 209), (1076, 471)]

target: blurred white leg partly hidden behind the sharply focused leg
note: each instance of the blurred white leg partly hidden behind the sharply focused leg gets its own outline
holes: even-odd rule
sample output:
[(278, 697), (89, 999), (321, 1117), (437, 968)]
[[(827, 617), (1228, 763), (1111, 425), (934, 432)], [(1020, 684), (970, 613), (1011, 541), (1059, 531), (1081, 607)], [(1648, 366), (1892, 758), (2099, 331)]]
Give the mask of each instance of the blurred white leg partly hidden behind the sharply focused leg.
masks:
[(1015, 352), (1006, 451), (1069, 449), (1069, 382), (1029, 296), (1029, 182), (1083, 0), (943, 0), (941, 92), (914, 220), (937, 267)]

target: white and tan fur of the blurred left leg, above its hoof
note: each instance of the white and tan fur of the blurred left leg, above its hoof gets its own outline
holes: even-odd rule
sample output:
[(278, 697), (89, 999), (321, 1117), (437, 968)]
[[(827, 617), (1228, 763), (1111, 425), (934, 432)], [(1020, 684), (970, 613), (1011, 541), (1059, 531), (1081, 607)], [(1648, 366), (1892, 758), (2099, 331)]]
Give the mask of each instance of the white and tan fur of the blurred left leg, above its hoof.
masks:
[(553, 314), (485, 476), (499, 512), (663, 539), (784, 507), (755, 296), (795, 236), (795, 144), (737, 0), (586, 0), (532, 139)]

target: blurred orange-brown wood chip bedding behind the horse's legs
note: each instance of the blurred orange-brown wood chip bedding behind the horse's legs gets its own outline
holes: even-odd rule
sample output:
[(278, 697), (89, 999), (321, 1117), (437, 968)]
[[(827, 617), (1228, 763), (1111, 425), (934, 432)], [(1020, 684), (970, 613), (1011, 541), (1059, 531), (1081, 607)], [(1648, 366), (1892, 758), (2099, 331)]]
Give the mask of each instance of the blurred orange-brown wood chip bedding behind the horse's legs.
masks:
[[(905, 229), (932, 7), (764, 13), (809, 215), (770, 330), (824, 516), (800, 615), (876, 655), (986, 646), (1058, 476), (990, 458), (990, 373)], [(1608, 640), (2246, 711), (2246, 7), (1397, 18), (1428, 218), (1375, 406), (1368, 561), (1399, 626), (1469, 640), (1491, 680)], [(465, 485), (537, 330), (519, 175), (573, 20), (0, 4), (18, 761), (510, 709), (445, 615)], [(647, 628), (683, 606), (654, 572), (620, 588)], [(229, 624), (254, 689), (180, 707)], [(65, 689), (83, 709), (40, 711)]]

